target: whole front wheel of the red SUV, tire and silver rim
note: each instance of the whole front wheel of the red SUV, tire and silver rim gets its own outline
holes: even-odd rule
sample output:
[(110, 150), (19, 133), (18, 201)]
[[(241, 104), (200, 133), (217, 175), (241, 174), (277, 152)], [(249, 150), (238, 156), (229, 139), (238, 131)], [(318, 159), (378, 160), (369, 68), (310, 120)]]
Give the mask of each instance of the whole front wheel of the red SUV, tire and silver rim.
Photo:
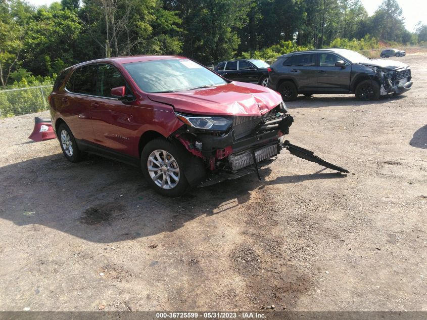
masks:
[(178, 197), (188, 189), (184, 175), (186, 154), (164, 139), (150, 141), (141, 153), (141, 168), (149, 185), (159, 194)]

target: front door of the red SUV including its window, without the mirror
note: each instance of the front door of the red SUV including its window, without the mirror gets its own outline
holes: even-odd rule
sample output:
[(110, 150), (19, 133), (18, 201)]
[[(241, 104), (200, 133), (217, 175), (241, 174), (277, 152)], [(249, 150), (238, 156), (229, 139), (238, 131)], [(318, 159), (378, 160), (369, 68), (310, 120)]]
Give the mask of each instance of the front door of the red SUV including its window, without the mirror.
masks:
[(97, 144), (128, 155), (133, 155), (138, 123), (137, 107), (132, 102), (122, 102), (111, 96), (111, 89), (126, 87), (126, 95), (132, 90), (116, 67), (99, 64), (96, 78), (97, 104), (92, 105), (91, 117)]

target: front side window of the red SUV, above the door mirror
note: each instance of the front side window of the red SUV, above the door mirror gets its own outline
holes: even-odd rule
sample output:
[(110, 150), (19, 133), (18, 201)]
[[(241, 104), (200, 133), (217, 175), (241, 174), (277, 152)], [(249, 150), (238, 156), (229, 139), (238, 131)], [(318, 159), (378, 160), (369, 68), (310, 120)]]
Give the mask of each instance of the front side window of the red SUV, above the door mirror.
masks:
[(113, 98), (111, 96), (111, 89), (118, 86), (126, 87), (126, 95), (131, 94), (126, 80), (123, 78), (122, 74), (115, 67), (102, 64), (98, 66), (98, 75), (97, 75), (97, 96)]

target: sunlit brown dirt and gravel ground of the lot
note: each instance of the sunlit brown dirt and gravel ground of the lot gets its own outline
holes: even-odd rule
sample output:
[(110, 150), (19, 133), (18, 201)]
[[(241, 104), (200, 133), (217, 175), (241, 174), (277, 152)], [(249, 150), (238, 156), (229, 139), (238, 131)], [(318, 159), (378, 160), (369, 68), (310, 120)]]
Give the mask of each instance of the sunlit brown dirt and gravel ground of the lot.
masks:
[(163, 198), (0, 120), (0, 310), (427, 310), (427, 57), (400, 60), (400, 97), (288, 103), (289, 140), (348, 175), (285, 151), (265, 184)]

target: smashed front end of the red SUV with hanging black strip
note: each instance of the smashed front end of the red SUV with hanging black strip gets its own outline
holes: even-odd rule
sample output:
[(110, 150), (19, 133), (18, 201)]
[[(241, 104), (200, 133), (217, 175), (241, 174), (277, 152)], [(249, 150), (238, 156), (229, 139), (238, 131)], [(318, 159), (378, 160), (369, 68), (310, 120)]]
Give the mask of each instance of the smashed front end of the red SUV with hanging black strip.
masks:
[[(197, 165), (192, 164), (193, 170), (187, 176), (192, 186), (210, 186), (253, 172), (260, 178), (258, 168), (271, 163), (283, 148), (300, 158), (322, 165), (327, 163), (313, 153), (311, 158), (307, 153), (301, 156), (301, 152), (293, 149), (296, 146), (284, 141), (284, 135), (289, 133), (294, 119), (283, 102), (267, 113), (255, 116), (206, 117), (175, 114), (185, 125), (173, 133), (174, 138), (189, 153), (203, 160), (207, 172), (206, 175), (197, 175), (194, 172)], [(300, 148), (301, 150), (305, 149)], [(327, 167), (348, 172), (331, 166)]]

